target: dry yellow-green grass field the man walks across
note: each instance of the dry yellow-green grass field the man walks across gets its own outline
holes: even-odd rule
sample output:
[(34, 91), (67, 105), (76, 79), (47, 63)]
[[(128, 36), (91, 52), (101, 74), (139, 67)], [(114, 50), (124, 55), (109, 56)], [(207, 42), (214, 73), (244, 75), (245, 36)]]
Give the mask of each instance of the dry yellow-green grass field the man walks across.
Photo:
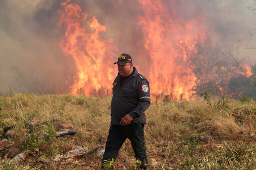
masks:
[[(251, 169), (256, 167), (256, 102), (206, 98), (191, 102), (152, 102), (146, 111), (145, 139), (148, 158), (157, 164), (149, 169)], [(14, 126), (10, 143), (28, 155), (8, 164), (7, 150), (0, 151), (0, 169), (39, 169), (39, 157), (51, 158), (71, 148), (88, 146), (89, 152), (70, 162), (44, 163), (41, 169), (99, 169), (101, 157), (90, 154), (105, 145), (110, 126), (111, 97), (16, 94), (0, 96), (0, 133)], [(54, 119), (71, 123), (77, 133), (55, 138)], [(29, 132), (26, 123), (37, 120), (47, 128)], [(41, 132), (48, 137), (42, 138)], [(210, 137), (201, 141), (200, 136)], [(1, 136), (0, 136), (1, 137)], [(208, 137), (208, 138), (209, 138)], [(2, 137), (3, 138), (3, 137)], [(134, 167), (134, 153), (127, 139), (119, 151), (116, 169)]]

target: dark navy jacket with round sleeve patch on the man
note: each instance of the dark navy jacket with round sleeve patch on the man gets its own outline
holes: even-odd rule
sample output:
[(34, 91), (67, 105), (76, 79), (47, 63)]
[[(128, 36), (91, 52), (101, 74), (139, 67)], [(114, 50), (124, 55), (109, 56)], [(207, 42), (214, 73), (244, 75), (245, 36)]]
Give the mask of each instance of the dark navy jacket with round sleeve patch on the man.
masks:
[(146, 124), (145, 111), (150, 105), (148, 80), (138, 73), (135, 67), (128, 79), (120, 85), (121, 75), (118, 73), (113, 83), (111, 101), (111, 125), (121, 125), (121, 119), (129, 114), (133, 120), (130, 124), (140, 122)]

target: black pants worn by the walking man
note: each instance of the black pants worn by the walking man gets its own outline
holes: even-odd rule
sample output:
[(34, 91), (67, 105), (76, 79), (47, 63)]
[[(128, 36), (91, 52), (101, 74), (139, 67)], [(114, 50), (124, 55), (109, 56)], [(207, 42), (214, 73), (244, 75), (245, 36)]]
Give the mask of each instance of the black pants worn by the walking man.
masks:
[(130, 139), (132, 143), (136, 159), (140, 160), (142, 168), (146, 169), (147, 166), (144, 165), (143, 162), (145, 160), (147, 164), (148, 160), (144, 139), (144, 124), (142, 123), (133, 123), (127, 126), (111, 125), (108, 132), (108, 139), (102, 163), (104, 163), (104, 160), (111, 161), (112, 158), (116, 160), (118, 151), (126, 138)]

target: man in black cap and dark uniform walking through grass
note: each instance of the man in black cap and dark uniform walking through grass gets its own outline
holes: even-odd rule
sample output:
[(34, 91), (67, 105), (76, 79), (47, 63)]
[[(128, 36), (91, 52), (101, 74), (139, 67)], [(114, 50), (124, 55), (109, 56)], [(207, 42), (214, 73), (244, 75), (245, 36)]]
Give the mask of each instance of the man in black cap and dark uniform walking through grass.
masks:
[(111, 100), (111, 126), (103, 154), (105, 160), (114, 160), (126, 138), (130, 139), (141, 168), (147, 168), (147, 153), (144, 139), (145, 111), (150, 105), (149, 83), (133, 67), (132, 58), (123, 53), (117, 64), (118, 75), (113, 82), (113, 97)]

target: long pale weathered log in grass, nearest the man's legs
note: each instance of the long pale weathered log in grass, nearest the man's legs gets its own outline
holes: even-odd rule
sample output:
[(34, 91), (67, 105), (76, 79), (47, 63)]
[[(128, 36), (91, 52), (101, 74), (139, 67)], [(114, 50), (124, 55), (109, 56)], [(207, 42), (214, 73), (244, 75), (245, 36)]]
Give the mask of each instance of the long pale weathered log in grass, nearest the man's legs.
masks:
[(66, 154), (58, 154), (54, 156), (52, 160), (59, 161), (61, 159), (68, 159), (71, 157), (80, 156), (85, 154), (87, 151), (88, 151), (88, 147), (77, 146), (71, 149), (70, 151), (68, 151)]

